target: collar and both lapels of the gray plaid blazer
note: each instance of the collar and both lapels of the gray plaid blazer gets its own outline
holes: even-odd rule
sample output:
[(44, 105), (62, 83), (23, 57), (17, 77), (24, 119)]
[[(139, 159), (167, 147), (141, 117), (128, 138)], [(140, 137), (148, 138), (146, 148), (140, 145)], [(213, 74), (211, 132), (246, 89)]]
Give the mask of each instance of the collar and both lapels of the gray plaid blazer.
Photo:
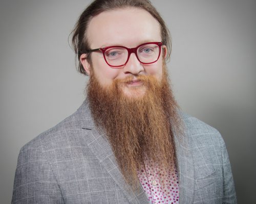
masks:
[[(130, 203), (148, 203), (147, 196), (140, 185), (139, 190), (134, 192), (132, 188), (125, 183), (122, 173), (118, 168), (114, 152), (111, 145), (106, 139), (105, 133), (95, 127), (89, 110), (87, 100), (84, 101), (78, 112), (86, 118), (84, 123), (81, 121), (83, 129), (89, 129), (89, 133), (83, 138), (92, 150), (95, 157), (99, 160), (105, 170), (112, 176), (113, 180), (123, 191), (127, 200)], [(179, 179), (179, 203), (193, 203), (194, 199), (194, 166), (191, 149), (189, 148), (189, 141), (186, 134), (182, 137), (175, 136), (175, 148), (177, 157), (177, 171)]]

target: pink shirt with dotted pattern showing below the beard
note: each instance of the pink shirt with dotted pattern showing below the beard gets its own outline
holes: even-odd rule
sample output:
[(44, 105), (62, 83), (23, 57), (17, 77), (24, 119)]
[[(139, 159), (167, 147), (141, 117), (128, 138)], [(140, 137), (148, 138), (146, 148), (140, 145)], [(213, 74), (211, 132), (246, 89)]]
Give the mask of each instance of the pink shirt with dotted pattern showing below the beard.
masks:
[[(138, 176), (150, 204), (179, 203), (179, 182), (175, 165), (167, 173), (164, 173), (157, 166), (151, 167), (146, 164), (145, 169), (138, 171)], [(159, 176), (164, 177), (164, 181), (161, 182)], [(161, 185), (162, 183), (164, 183), (164, 186)]]

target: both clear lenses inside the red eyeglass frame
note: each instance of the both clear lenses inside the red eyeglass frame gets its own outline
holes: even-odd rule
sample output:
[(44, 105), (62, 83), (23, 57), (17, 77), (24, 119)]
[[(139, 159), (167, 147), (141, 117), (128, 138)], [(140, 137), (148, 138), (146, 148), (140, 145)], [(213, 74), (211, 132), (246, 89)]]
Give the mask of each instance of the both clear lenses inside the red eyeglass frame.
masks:
[[(144, 44), (137, 48), (137, 56), (141, 63), (152, 63), (158, 59), (159, 46), (157, 44)], [(105, 59), (112, 66), (125, 64), (128, 50), (123, 47), (111, 47), (105, 50)]]

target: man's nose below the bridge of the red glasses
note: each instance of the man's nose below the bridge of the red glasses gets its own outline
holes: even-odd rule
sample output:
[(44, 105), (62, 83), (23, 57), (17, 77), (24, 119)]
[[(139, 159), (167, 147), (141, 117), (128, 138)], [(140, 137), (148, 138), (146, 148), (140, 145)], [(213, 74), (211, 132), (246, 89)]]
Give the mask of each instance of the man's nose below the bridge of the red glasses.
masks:
[(134, 75), (137, 75), (140, 72), (142, 72), (143, 70), (144, 70), (143, 65), (139, 62), (135, 53), (132, 53), (130, 55), (128, 62), (123, 67), (124, 73), (126, 73), (126, 74), (132, 73)]

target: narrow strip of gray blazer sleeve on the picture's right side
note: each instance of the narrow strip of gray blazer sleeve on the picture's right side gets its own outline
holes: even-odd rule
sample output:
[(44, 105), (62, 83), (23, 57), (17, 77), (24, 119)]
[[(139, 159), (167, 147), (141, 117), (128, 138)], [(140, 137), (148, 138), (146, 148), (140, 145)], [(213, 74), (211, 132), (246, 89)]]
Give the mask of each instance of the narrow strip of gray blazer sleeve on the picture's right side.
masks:
[(223, 203), (237, 203), (236, 191), (228, 153), (224, 140), (221, 138), (221, 151), (223, 162)]

